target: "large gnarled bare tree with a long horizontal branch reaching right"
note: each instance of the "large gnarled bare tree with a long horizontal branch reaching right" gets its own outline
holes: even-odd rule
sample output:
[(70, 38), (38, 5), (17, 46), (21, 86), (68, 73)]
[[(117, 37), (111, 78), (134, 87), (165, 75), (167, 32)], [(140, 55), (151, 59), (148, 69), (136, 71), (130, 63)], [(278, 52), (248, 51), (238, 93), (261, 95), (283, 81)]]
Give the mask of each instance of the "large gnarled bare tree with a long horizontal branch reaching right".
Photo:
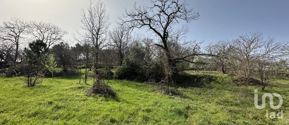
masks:
[[(191, 20), (197, 20), (199, 13), (192, 12), (192, 9), (187, 8), (188, 4), (179, 0), (151, 0), (151, 3), (153, 4), (152, 7), (137, 7), (135, 5), (132, 11), (126, 11), (124, 17), (120, 18), (120, 24), (127, 24), (130, 29), (147, 27), (160, 38), (160, 43), (155, 43), (155, 45), (164, 50), (168, 69), (172, 73), (174, 80), (174, 76), (178, 74), (176, 71), (177, 63), (183, 61), (192, 62), (186, 58), (194, 55), (210, 55), (191, 52), (191, 54), (174, 58), (170, 51), (169, 38), (175, 35), (172, 26), (181, 20), (186, 23), (189, 23)], [(169, 83), (170, 81), (168, 80), (168, 85)]]

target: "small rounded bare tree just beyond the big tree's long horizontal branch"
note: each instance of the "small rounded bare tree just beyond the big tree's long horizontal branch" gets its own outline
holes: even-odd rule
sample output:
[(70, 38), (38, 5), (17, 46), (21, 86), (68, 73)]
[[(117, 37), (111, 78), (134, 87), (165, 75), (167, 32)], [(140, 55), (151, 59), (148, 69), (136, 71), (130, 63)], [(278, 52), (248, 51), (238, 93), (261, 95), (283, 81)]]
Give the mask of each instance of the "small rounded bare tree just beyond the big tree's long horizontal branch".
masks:
[(231, 58), (233, 58), (232, 54), (233, 45), (231, 41), (219, 41), (216, 43), (212, 43), (208, 45), (207, 52), (212, 53), (219, 56), (213, 56), (211, 59), (221, 67), (222, 73), (227, 72), (227, 65)]

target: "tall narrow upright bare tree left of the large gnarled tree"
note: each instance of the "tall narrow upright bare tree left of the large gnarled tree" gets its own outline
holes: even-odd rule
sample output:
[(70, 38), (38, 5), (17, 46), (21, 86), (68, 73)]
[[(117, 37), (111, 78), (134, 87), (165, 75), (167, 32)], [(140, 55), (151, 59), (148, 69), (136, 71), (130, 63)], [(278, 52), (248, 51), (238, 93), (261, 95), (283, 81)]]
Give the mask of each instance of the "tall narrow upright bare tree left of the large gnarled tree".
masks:
[(105, 7), (103, 2), (98, 1), (98, 3), (93, 5), (90, 1), (87, 11), (82, 9), (81, 28), (85, 33), (78, 33), (82, 37), (89, 36), (91, 40), (91, 45), (93, 45), (95, 51), (95, 69), (98, 67), (100, 50), (107, 46), (107, 33), (110, 22)]

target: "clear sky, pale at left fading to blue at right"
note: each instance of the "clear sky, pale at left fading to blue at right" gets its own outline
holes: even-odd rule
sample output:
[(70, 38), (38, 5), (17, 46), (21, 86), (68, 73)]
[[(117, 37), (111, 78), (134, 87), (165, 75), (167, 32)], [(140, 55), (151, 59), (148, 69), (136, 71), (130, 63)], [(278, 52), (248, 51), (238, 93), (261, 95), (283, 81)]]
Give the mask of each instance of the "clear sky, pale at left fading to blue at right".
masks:
[[(110, 29), (117, 27), (118, 17), (133, 5), (151, 6), (150, 0), (101, 0), (110, 15)], [(182, 1), (182, 0), (181, 0)], [(98, 0), (92, 0), (96, 3)], [(199, 12), (200, 18), (188, 23), (187, 40), (204, 41), (204, 45), (219, 40), (235, 39), (246, 33), (263, 33), (264, 39), (274, 37), (277, 42), (289, 41), (288, 0), (187, 0), (188, 8)], [(72, 39), (81, 32), (81, 9), (89, 0), (0, 0), (0, 22), (13, 17), (54, 23), (69, 32), (64, 39)], [(151, 36), (147, 29), (135, 33)]]

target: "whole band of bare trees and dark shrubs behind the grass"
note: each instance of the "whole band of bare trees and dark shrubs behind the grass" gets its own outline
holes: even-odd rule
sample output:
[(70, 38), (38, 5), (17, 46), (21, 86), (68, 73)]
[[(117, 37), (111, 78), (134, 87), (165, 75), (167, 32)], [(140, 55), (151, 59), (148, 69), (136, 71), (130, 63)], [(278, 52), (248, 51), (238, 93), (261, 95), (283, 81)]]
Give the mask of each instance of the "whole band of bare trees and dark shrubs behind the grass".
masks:
[[(69, 68), (79, 72), (79, 83), (83, 68), (84, 83), (93, 77), (95, 86), (100, 85), (100, 79), (114, 77), (140, 82), (153, 80), (166, 84), (167, 90), (171, 84), (180, 83), (179, 76), (188, 69), (220, 70), (259, 78), (262, 89), (277, 70), (288, 70), (288, 44), (271, 37), (264, 39), (259, 32), (207, 46), (188, 40), (187, 24), (199, 19), (200, 14), (187, 6), (180, 0), (155, 0), (151, 6), (135, 4), (119, 17), (118, 26), (109, 30), (111, 23), (104, 3), (90, 2), (82, 9), (82, 31), (74, 36), (75, 45), (65, 41), (68, 33), (52, 23), (13, 18), (0, 26), (0, 61), (11, 67), (20, 64), (28, 67), (30, 70), (25, 70), (28, 83), (29, 80), (37, 83), (43, 69), (53, 76), (53, 68), (58, 65), (63, 72)], [(183, 27), (175, 27), (178, 23), (183, 23)], [(132, 34), (135, 28), (146, 29), (152, 36)], [(28, 48), (23, 45), (25, 42)], [(110, 70), (115, 67), (112, 76)]]

